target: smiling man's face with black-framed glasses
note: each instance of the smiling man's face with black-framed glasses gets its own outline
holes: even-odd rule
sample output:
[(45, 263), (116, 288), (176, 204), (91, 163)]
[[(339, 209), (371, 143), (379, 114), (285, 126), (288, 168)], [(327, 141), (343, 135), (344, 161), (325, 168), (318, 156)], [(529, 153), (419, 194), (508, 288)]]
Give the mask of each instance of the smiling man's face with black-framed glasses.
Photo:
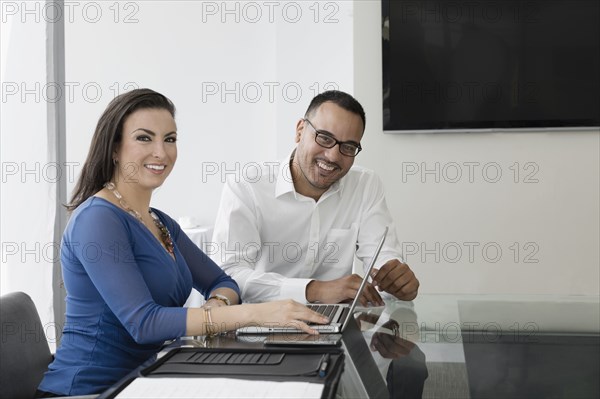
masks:
[(313, 127), (301, 119), (296, 125), (296, 154), (292, 177), (296, 191), (317, 201), (333, 183), (348, 173), (354, 157), (340, 153), (339, 145), (324, 148), (315, 142), (316, 132), (328, 132), (338, 141), (360, 143), (363, 123), (359, 115), (325, 102), (308, 115)]

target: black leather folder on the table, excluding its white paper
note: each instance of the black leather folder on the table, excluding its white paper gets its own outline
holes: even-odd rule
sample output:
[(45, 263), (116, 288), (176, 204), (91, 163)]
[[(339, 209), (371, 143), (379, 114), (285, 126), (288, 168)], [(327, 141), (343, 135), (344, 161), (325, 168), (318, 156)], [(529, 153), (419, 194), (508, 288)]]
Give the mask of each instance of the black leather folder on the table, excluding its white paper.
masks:
[[(335, 397), (343, 369), (344, 351), (337, 347), (175, 348), (141, 370), (137, 378), (303, 381), (323, 384), (321, 398), (329, 399)], [(134, 379), (123, 381), (107, 397), (116, 397)]]

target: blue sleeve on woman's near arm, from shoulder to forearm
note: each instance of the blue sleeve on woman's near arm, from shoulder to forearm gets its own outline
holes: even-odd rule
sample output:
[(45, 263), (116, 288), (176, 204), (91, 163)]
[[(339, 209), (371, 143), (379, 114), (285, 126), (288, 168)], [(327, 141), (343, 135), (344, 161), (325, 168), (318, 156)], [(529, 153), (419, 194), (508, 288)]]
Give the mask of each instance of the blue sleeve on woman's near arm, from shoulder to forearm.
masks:
[[(168, 293), (163, 304), (153, 299), (135, 257), (133, 233), (122, 215), (105, 206), (83, 209), (67, 227), (65, 240), (63, 267), (82, 265), (101, 300), (137, 343), (185, 335), (187, 309), (178, 307)], [(94, 295), (89, 293), (91, 301), (96, 300)]]

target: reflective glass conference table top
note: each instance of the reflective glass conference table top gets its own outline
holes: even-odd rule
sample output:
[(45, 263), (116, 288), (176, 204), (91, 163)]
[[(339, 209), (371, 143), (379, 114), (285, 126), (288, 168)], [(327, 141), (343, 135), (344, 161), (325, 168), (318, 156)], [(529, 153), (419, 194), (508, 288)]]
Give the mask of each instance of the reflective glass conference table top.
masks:
[[(384, 299), (385, 307), (358, 309), (343, 334), (337, 397), (600, 397), (599, 297)], [(262, 347), (264, 339), (228, 333), (169, 347)]]

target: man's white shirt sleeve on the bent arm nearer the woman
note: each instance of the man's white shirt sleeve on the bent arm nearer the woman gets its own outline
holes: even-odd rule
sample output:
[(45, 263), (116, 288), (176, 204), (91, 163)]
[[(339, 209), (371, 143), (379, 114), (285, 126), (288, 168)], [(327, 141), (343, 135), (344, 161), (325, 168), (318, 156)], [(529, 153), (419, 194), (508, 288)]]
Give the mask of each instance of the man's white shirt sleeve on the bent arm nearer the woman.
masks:
[(245, 302), (291, 298), (306, 302), (310, 279), (288, 278), (255, 269), (262, 240), (253, 194), (245, 182), (225, 182), (211, 242), (211, 258), (240, 285)]

